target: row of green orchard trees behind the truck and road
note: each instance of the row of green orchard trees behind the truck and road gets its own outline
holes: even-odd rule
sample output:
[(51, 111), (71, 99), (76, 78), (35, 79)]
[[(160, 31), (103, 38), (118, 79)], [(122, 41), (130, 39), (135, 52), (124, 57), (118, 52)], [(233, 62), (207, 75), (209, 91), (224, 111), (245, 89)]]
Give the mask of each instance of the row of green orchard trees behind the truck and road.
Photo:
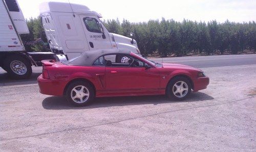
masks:
[[(134, 38), (143, 56), (157, 54), (162, 57), (169, 55), (185, 56), (189, 53), (207, 55), (219, 52), (237, 54), (244, 50), (256, 51), (256, 23), (230, 22), (219, 23), (216, 20), (197, 22), (173, 19), (150, 20), (147, 22), (129, 22), (118, 19), (103, 20), (111, 33)], [(27, 21), (30, 34), (22, 35), (26, 50), (49, 50), (40, 17)]]

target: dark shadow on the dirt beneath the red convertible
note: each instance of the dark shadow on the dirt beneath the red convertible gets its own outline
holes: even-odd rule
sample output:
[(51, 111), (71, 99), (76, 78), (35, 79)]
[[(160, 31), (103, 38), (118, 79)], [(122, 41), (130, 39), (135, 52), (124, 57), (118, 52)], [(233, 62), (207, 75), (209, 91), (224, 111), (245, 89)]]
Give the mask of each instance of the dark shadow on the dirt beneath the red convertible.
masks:
[(128, 97), (99, 97), (95, 98), (94, 102), (86, 107), (76, 107), (68, 102), (65, 96), (50, 96), (42, 101), (42, 107), (47, 110), (67, 110), (67, 109), (93, 109), (102, 107), (115, 106), (131, 106), (145, 104), (164, 104), (177, 102), (200, 102), (203, 100), (212, 100), (214, 97), (202, 92), (194, 92), (189, 95), (185, 101), (175, 101), (168, 99), (165, 95), (154, 96), (128, 96)]

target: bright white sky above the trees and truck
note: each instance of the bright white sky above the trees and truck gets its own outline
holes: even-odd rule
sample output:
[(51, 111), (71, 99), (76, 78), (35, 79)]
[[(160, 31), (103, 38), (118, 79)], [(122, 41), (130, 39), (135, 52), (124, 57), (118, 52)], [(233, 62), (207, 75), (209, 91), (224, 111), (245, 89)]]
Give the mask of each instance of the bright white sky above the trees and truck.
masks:
[[(17, 0), (25, 18), (39, 15), (39, 4), (47, 0)], [(53, 0), (68, 2), (68, 0)], [(127, 19), (131, 22), (142, 22), (150, 19), (184, 18), (196, 21), (218, 22), (225, 20), (235, 22), (256, 21), (256, 0), (69, 0), (70, 3), (82, 4), (100, 13), (103, 19)]]

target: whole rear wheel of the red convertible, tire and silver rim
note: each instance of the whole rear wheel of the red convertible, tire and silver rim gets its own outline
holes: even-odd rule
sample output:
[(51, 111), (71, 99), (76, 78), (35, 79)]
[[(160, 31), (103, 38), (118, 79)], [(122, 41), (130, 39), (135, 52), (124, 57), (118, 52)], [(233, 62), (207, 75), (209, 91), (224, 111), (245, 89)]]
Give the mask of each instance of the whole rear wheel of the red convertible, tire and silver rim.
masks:
[(87, 106), (94, 100), (95, 92), (89, 83), (76, 81), (69, 85), (67, 97), (75, 106)]

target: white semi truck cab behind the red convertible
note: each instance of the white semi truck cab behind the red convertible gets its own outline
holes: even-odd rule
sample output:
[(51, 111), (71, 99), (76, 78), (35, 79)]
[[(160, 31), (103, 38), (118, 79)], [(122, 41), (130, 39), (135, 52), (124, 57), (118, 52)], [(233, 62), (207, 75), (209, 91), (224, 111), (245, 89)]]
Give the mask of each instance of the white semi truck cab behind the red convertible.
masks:
[[(42, 24), (53, 53), (75, 58), (96, 49), (125, 49), (140, 54), (134, 39), (109, 33), (87, 6), (46, 2), (39, 6)], [(60, 59), (61, 60), (61, 59)]]

